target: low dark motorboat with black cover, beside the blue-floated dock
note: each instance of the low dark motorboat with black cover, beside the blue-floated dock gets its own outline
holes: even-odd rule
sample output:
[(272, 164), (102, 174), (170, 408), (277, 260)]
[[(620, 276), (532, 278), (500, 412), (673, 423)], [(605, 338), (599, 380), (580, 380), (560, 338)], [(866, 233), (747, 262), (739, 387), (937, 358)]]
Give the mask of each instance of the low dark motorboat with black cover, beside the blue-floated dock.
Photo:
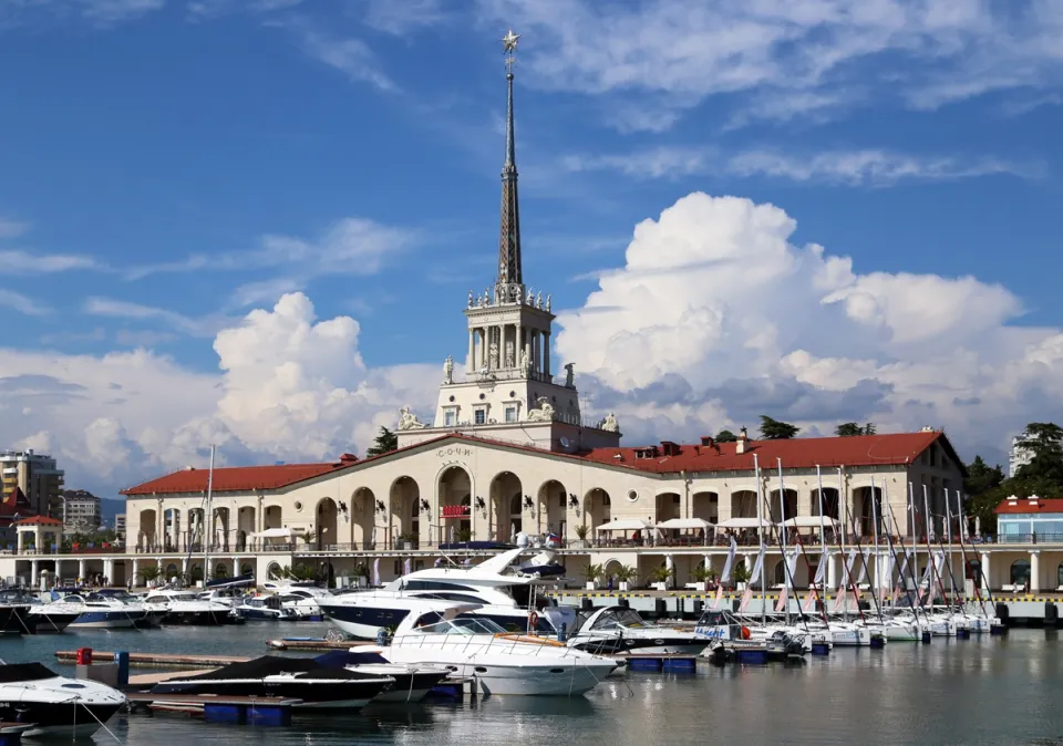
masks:
[[(313, 659), (264, 655), (197, 676), (167, 678), (152, 694), (271, 696), (299, 700), (296, 708), (361, 709), (395, 683), (391, 676), (323, 666)], [(165, 705), (161, 696), (156, 704)]]

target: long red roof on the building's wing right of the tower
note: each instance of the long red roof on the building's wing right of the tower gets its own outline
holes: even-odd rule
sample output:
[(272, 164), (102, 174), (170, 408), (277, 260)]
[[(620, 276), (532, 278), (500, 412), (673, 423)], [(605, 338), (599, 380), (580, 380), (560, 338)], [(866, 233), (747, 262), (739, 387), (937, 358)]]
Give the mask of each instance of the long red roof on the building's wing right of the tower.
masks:
[[(596, 448), (584, 457), (600, 464), (629, 466), (640, 472), (669, 474), (675, 472), (751, 472), (755, 454), (762, 469), (836, 468), (838, 466), (904, 465), (915, 460), (931, 443), (940, 441), (953, 462), (963, 468), (945, 433), (896, 433), (855, 435), (850, 437), (792, 438), (785, 441), (747, 441), (745, 453), (735, 453), (736, 443), (714, 445), (678, 445), (663, 443), (634, 448)], [(649, 453), (647, 453), (647, 449)], [(637, 450), (643, 453), (639, 458)], [(620, 458), (617, 458), (619, 454)]]

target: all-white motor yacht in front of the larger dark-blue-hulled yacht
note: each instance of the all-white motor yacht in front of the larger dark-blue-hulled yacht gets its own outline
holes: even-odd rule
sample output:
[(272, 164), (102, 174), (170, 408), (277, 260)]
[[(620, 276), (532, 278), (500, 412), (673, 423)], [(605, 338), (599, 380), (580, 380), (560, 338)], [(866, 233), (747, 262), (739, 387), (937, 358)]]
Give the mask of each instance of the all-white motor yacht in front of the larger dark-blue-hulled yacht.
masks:
[(554, 640), (508, 633), (465, 615), (469, 604), (422, 601), (400, 622), (390, 645), (359, 646), (390, 663), (444, 666), (473, 677), (485, 694), (575, 696), (597, 686), (619, 663)]

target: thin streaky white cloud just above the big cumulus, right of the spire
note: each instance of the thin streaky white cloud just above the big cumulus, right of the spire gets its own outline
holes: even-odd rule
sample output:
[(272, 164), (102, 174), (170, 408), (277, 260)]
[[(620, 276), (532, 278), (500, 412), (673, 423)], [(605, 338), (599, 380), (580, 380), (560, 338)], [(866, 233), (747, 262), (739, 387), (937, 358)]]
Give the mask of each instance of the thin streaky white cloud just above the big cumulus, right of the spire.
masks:
[(627, 154), (570, 155), (559, 162), (569, 173), (615, 170), (637, 178), (694, 175), (767, 176), (792, 182), (891, 186), (906, 180), (950, 180), (1010, 174), (1036, 178), (1038, 163), (994, 157), (919, 156), (878, 149), (826, 151), (806, 155), (747, 149), (724, 155), (714, 147), (662, 145)]

